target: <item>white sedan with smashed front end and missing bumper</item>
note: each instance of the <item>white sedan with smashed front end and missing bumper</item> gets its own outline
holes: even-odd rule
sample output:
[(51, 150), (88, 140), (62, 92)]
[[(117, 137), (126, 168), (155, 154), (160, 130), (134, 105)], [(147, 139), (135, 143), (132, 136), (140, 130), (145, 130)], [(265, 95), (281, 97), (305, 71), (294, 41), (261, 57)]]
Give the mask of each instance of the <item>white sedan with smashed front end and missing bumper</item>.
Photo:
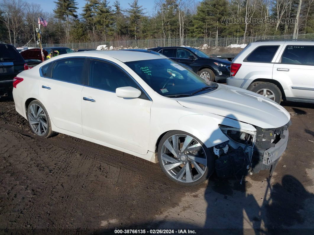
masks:
[(19, 73), (13, 85), (16, 111), (37, 136), (59, 132), (159, 162), (184, 185), (214, 171), (237, 179), (273, 171), (287, 146), (283, 107), (154, 54), (60, 55)]

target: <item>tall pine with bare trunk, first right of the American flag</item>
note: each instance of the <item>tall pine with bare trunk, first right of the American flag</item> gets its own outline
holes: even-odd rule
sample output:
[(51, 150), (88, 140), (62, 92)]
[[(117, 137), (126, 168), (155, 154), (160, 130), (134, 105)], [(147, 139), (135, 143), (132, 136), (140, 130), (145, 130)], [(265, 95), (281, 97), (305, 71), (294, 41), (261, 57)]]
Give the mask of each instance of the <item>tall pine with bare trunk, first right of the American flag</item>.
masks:
[(64, 21), (66, 23), (66, 37), (67, 41), (69, 42), (70, 38), (70, 17), (73, 17), (74, 19), (78, 18), (77, 13), (77, 2), (75, 0), (57, 0), (56, 2), (56, 9), (53, 10), (53, 12), (56, 14), (57, 19), (60, 19), (61, 21)]

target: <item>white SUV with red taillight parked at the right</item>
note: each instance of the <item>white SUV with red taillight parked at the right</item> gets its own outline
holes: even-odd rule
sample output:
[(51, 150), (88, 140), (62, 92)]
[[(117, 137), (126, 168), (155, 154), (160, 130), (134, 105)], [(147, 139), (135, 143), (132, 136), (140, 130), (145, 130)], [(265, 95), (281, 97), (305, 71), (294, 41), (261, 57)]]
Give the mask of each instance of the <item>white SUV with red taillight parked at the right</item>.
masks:
[(273, 101), (314, 103), (314, 40), (259, 40), (233, 59), (227, 84)]

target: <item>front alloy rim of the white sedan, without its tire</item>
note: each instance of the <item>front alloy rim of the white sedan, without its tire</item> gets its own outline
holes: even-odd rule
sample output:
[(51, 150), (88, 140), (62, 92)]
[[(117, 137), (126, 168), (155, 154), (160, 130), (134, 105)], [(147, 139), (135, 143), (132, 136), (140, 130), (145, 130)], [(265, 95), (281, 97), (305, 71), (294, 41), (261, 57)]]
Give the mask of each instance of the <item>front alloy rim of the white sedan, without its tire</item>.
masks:
[(161, 163), (173, 179), (192, 183), (206, 172), (207, 157), (202, 145), (192, 136), (170, 136), (161, 148)]

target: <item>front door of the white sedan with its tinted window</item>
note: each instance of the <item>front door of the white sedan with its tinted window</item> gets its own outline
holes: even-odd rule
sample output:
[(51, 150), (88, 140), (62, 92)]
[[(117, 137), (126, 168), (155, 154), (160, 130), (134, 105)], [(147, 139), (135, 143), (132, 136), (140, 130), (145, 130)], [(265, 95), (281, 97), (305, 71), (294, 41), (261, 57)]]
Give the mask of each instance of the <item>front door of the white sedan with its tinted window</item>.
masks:
[(116, 96), (116, 88), (138, 88), (116, 65), (90, 60), (89, 86), (81, 94), (83, 133), (85, 136), (146, 154), (149, 142), (150, 107), (145, 95), (136, 99)]

